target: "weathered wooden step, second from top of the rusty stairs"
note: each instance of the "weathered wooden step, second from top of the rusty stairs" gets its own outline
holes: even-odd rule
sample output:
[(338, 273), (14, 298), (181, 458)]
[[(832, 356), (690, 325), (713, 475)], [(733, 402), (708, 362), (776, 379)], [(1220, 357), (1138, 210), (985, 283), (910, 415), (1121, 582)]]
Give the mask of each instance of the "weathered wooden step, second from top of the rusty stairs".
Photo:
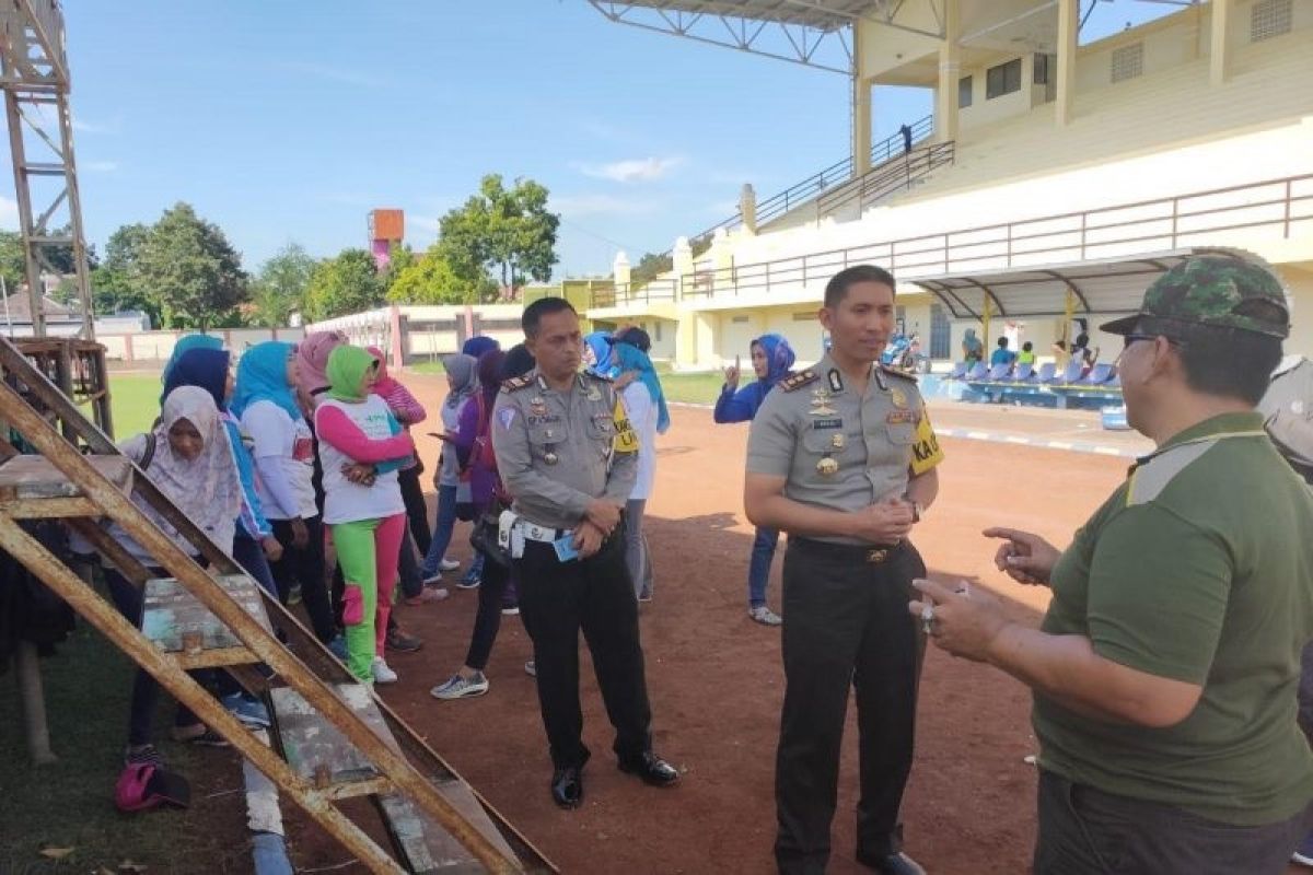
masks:
[[(259, 584), (249, 577), (221, 575), (214, 580), (256, 622), (269, 630), (269, 617), (260, 601)], [(142, 632), (156, 648), (168, 653), (183, 653), (198, 660), (207, 651), (247, 652), (242, 640), (218, 617), (188, 592), (173, 577), (155, 577), (146, 581), (146, 606), (142, 613)], [(222, 659), (222, 653), (217, 659)], [(243, 662), (257, 661), (253, 656)], [(225, 665), (226, 662), (214, 662)], [(200, 668), (200, 665), (188, 665)]]

